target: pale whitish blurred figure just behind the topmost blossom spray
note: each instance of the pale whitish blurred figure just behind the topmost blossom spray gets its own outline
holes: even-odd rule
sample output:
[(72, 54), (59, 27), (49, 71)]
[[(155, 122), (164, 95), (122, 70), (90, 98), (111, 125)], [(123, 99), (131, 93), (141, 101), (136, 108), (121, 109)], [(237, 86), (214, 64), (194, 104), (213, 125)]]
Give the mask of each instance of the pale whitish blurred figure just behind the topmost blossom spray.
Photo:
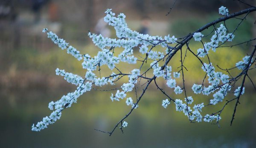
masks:
[(98, 20), (98, 23), (95, 26), (96, 34), (101, 34), (104, 37), (109, 38), (111, 36), (110, 29), (108, 29), (108, 23), (104, 21), (104, 18)]

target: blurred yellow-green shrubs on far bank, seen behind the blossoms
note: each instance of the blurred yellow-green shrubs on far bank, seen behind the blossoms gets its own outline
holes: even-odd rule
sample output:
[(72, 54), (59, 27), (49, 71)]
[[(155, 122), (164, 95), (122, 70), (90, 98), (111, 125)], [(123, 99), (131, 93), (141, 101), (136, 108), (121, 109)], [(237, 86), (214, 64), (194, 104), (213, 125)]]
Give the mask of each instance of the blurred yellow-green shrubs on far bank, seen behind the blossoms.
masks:
[[(197, 49), (201, 48), (201, 43), (192, 41), (192, 44), (190, 44), (190, 49), (197, 53)], [(94, 56), (97, 49), (93, 44), (90, 44), (88, 46), (85, 46), (84, 49), (80, 49), (81, 53), (89, 53), (90, 55)], [(163, 52), (163, 48), (157, 47), (155, 50)], [(118, 54), (120, 50), (118, 48), (115, 49), (116, 54)], [(138, 52), (134, 51), (135, 54), (139, 54)], [(183, 57), (186, 52), (186, 47), (183, 47)], [(241, 61), (241, 58), (243, 57), (243, 50), (238, 47), (225, 47), (225, 48), (219, 48), (216, 52), (210, 51), (210, 60), (214, 64), (213, 66), (217, 68), (216, 65), (219, 65), (222, 68), (231, 68), (234, 67), (235, 63), (238, 61)], [(232, 57), (230, 54), (232, 53)], [(184, 71), (185, 77), (186, 75), (189, 75), (189, 77), (192, 77), (193, 80), (187, 80), (188, 84), (195, 83), (195, 82), (201, 82), (202, 78), (204, 78), (204, 71), (201, 69), (201, 63), (198, 61), (197, 58), (195, 58), (194, 55), (192, 55), (191, 52), (187, 51), (186, 54), (187, 58), (184, 61), (184, 66), (187, 68), (188, 71)], [(81, 63), (82, 61), (77, 61), (75, 58), (73, 58), (71, 55), (67, 54), (66, 52), (63, 52), (58, 47), (52, 49), (50, 52), (39, 52), (34, 49), (20, 49), (18, 52), (13, 52), (11, 57), (14, 59), (14, 63), (17, 64), (18, 70), (29, 70), (29, 71), (37, 71), (41, 72), (42, 74), (50, 74), (55, 75), (55, 69), (58, 67), (60, 69), (65, 69), (67, 71), (72, 71), (76, 74), (79, 74), (81, 76), (84, 75), (86, 72), (85, 70), (81, 69)], [(15, 57), (15, 58), (14, 58)], [(140, 59), (140, 58), (139, 58)], [(208, 58), (202, 58), (203, 62), (208, 62)], [(142, 67), (142, 70), (148, 70), (150, 67), (150, 61), (145, 64), (145, 66)], [(138, 61), (136, 65), (127, 66), (127, 64), (120, 62), (118, 64), (118, 67), (125, 67), (122, 71), (124, 73), (129, 73), (130, 70), (132, 70), (134, 67), (140, 67), (140, 62)], [(170, 62), (170, 65), (172, 66), (172, 70), (174, 72), (177, 72), (179, 70), (178, 67), (180, 67), (180, 52), (178, 52)], [(110, 70), (106, 67), (101, 67), (102, 75), (109, 75), (111, 73)], [(220, 71), (220, 70), (218, 70)], [(238, 72), (238, 70), (236, 70)], [(223, 73), (225, 73), (223, 71)], [(150, 73), (148, 73), (148, 76), (150, 76)], [(153, 75), (152, 75), (153, 76)], [(125, 81), (126, 78), (122, 78), (120, 82)], [(161, 80), (160, 80), (161, 81)], [(164, 81), (162, 81), (164, 83)], [(177, 80), (178, 83), (181, 83), (181, 80)]]

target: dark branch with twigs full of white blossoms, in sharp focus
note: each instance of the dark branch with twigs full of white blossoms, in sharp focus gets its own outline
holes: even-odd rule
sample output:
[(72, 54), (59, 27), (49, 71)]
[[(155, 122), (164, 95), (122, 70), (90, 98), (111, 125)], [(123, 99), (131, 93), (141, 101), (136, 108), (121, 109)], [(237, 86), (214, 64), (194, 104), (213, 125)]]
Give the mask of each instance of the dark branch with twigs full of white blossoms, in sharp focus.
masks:
[[(176, 1), (175, 1), (176, 2)], [(174, 3), (175, 4), (175, 3)], [(173, 6), (174, 6), (173, 4)], [(172, 7), (173, 7), (172, 6)], [(172, 9), (172, 8), (171, 8)], [(170, 9), (170, 10), (171, 10)], [(75, 84), (77, 86), (77, 89), (73, 93), (68, 93), (67, 95), (64, 95), (56, 102), (50, 102), (49, 103), (49, 109), (54, 110), (51, 115), (48, 117), (44, 117), (43, 121), (38, 122), (37, 125), (32, 125), (32, 131), (41, 131), (44, 128), (47, 128), (49, 124), (53, 124), (57, 121), (57, 119), (60, 119), (61, 112), (65, 108), (71, 107), (73, 103), (77, 102), (77, 99), (79, 96), (81, 96), (83, 93), (93, 90), (99, 90), (99, 91), (116, 91), (116, 93), (111, 93), (110, 99), (111, 101), (120, 101), (122, 99), (126, 98), (126, 104), (128, 106), (131, 106), (131, 110), (121, 119), (119, 122), (116, 123), (116, 125), (113, 127), (111, 131), (102, 131), (95, 129), (96, 131), (100, 131), (103, 133), (108, 133), (109, 136), (113, 134), (113, 132), (116, 130), (117, 127), (123, 132), (123, 128), (128, 126), (128, 122), (125, 121), (125, 119), (128, 118), (128, 116), (131, 115), (134, 109), (138, 108), (139, 102), (143, 98), (146, 90), (148, 89), (149, 85), (152, 81), (154, 81), (154, 84), (156, 85), (157, 89), (160, 90), (161, 93), (163, 93), (167, 99), (164, 99), (162, 101), (162, 106), (164, 108), (167, 108), (168, 105), (172, 102), (174, 102), (176, 110), (177, 111), (183, 111), (185, 116), (189, 118), (190, 122), (201, 122), (202, 119), (205, 122), (212, 122), (213, 120), (216, 120), (216, 124), (219, 123), (221, 119), (221, 113), (224, 110), (224, 107), (231, 101), (236, 100), (236, 105), (234, 108), (231, 125), (236, 113), (236, 107), (239, 103), (240, 96), (244, 93), (244, 82), (245, 79), (248, 77), (253, 84), (253, 81), (247, 74), (249, 70), (253, 70), (254, 68), (251, 67), (255, 63), (255, 59), (253, 58), (256, 47), (254, 48), (253, 52), (250, 54), (250, 56), (245, 56), (243, 58), (243, 61), (239, 61), (236, 63), (236, 66), (230, 69), (222, 69), (225, 72), (228, 73), (228, 75), (215, 71), (215, 67), (210, 61), (209, 58), (209, 50), (212, 49), (214, 52), (216, 52), (216, 49), (225, 44), (226, 42), (233, 41), (233, 38), (235, 37), (234, 33), (239, 28), (240, 24), (246, 19), (247, 15), (250, 12), (256, 11), (256, 7), (250, 7), (248, 9), (241, 10), (239, 12), (235, 12), (233, 14), (230, 14), (228, 9), (224, 6), (221, 6), (219, 8), (219, 13), (221, 15), (224, 15), (224, 17), (220, 17), (217, 20), (214, 20), (210, 23), (207, 23), (206, 25), (202, 26), (192, 34), (188, 34), (183, 38), (175, 38), (175, 36), (166, 35), (164, 38), (160, 36), (150, 36), (150, 35), (144, 35), (140, 34), (136, 31), (132, 31), (128, 28), (127, 23), (125, 21), (125, 15), (120, 13), (116, 16), (115, 13), (111, 11), (111, 9), (107, 9), (106, 16), (104, 17), (105, 22), (107, 22), (110, 26), (113, 26), (116, 30), (116, 38), (105, 38), (102, 35), (96, 35), (91, 32), (88, 33), (88, 36), (92, 39), (93, 43), (101, 49), (97, 53), (96, 56), (91, 57), (88, 54), (80, 54), (80, 52), (75, 49), (73, 46), (70, 46), (65, 40), (58, 38), (56, 34), (53, 32), (49, 32), (48, 29), (43, 29), (43, 32), (47, 32), (48, 38), (51, 38), (51, 40), (58, 44), (58, 46), (61, 49), (66, 49), (67, 53), (73, 55), (73, 57), (77, 58), (79, 61), (83, 60), (82, 67), (86, 69), (86, 73), (84, 78), (75, 75), (73, 73), (67, 73), (64, 70), (56, 69), (56, 75), (64, 76), (64, 79), (67, 80), (67, 82)], [(169, 13), (168, 13), (169, 14)], [(241, 16), (246, 14), (243, 18), (237, 18), (237, 16)], [(227, 29), (227, 26), (225, 25), (225, 21), (229, 20), (231, 18), (239, 19), (241, 20), (239, 24), (236, 26), (236, 29), (233, 32), (229, 32)], [(224, 22), (223, 24), (220, 24), (219, 27), (217, 27), (218, 23)], [(208, 29), (209, 27), (213, 27), (213, 30), (208, 35), (203, 35), (203, 31)], [(202, 39), (204, 39), (207, 36), (212, 35), (209, 42), (204, 43)], [(189, 47), (190, 41), (192, 41), (192, 38), (195, 41), (199, 41), (202, 44), (202, 48), (199, 48), (197, 50), (197, 53), (193, 51)], [(205, 39), (206, 40), (206, 39)], [(240, 44), (249, 43), (250, 41), (253, 41), (255, 39), (251, 39), (249, 41), (242, 42)], [(231, 45), (230, 47), (237, 46)], [(136, 55), (133, 53), (134, 47), (139, 46), (139, 52), (141, 59), (139, 60)], [(162, 48), (165, 48), (165, 53), (163, 50), (158, 51), (156, 49), (157, 46), (162, 46)], [(182, 47), (186, 46), (186, 51), (183, 52)], [(119, 48), (116, 48), (119, 47)], [(116, 48), (116, 49), (115, 49)], [(119, 50), (122, 48), (121, 52), (119, 54), (116, 54), (114, 50)], [(169, 62), (172, 60), (175, 54), (180, 51), (180, 67), (178, 67), (179, 71), (172, 72), (172, 67), (169, 66)], [(184, 61), (186, 59), (187, 52), (191, 52), (193, 56), (200, 61), (202, 64), (202, 70), (206, 73), (203, 79), (202, 84), (193, 84), (192, 90), (195, 94), (203, 94), (203, 95), (209, 95), (213, 93), (213, 99), (209, 100), (209, 104), (204, 105), (204, 103), (195, 104), (194, 107), (190, 106), (194, 99), (192, 96), (188, 95), (188, 89), (185, 85), (185, 74), (184, 71), (188, 71), (186, 66), (184, 65)], [(207, 63), (204, 63), (204, 61), (201, 58), (204, 58), (207, 56)], [(133, 69), (129, 73), (122, 73), (119, 68), (117, 68), (117, 65), (120, 63), (127, 63), (127, 64), (136, 64), (137, 62), (141, 62), (139, 69)], [(147, 62), (151, 62), (150, 66), (147, 65)], [(161, 65), (161, 66), (160, 66)], [(111, 71), (113, 71), (110, 75), (103, 76), (101, 74), (101, 67), (107, 66)], [(98, 68), (99, 67), (99, 68)], [(143, 67), (146, 67), (146, 70), (143, 71)], [(217, 65), (218, 67), (218, 65)], [(239, 75), (232, 76), (231, 70), (233, 69), (239, 69), (242, 70)], [(95, 71), (98, 69), (99, 71), (99, 78), (96, 75)], [(117, 71), (114, 73), (114, 71)], [(147, 73), (152, 72), (153, 75)], [(176, 79), (180, 78), (180, 72), (182, 75), (182, 87), (178, 86), (176, 84)], [(241, 83), (241, 87), (238, 87), (235, 91), (231, 91), (232, 87), (235, 87), (236, 82), (243, 76), (243, 81)], [(102, 87), (107, 84), (114, 85), (116, 84), (116, 81), (119, 81), (119, 79), (123, 77), (128, 77), (128, 82), (123, 83), (120, 87), (116, 87), (113, 89), (96, 89), (93, 88), (93, 85)], [(230, 78), (231, 77), (231, 78)], [(183, 103), (181, 99), (172, 99), (164, 90), (163, 88), (160, 88), (157, 84), (157, 79), (163, 78), (164, 81), (166, 81), (166, 86), (169, 88), (173, 88), (173, 91), (175, 94), (182, 94), (184, 93), (184, 101), (186, 103)], [(208, 78), (208, 79), (207, 79)], [(138, 83), (139, 79), (139, 83)], [(144, 87), (142, 89), (142, 93), (140, 95), (137, 95), (137, 89), (140, 85), (140, 82), (144, 80), (145, 83), (141, 86)], [(209, 85), (206, 86), (204, 83), (206, 80), (208, 80)], [(254, 84), (253, 84), (254, 86)], [(254, 86), (255, 87), (255, 86)], [(134, 103), (133, 99), (128, 96), (128, 92), (134, 91), (136, 94), (136, 101)], [(169, 90), (168, 90), (169, 92)], [(221, 110), (215, 113), (206, 114), (205, 116), (201, 115), (202, 109), (206, 106), (211, 106), (218, 104), (219, 102), (222, 102), (224, 97), (227, 96), (227, 93), (233, 93), (236, 98), (227, 100), (227, 102), (224, 104)], [(139, 96), (139, 97), (138, 97)]]

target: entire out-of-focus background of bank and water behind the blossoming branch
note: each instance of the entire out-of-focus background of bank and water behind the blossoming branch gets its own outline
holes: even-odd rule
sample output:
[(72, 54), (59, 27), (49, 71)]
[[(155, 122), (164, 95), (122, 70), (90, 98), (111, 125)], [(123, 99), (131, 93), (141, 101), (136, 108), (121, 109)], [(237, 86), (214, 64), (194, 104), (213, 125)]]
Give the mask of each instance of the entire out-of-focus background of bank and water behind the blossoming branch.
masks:
[[(247, 0), (256, 5), (255, 0)], [(50, 101), (56, 101), (76, 87), (67, 83), (62, 77), (55, 75), (55, 69), (84, 75), (81, 61), (76, 61), (53, 44), (43, 28), (55, 32), (81, 53), (96, 55), (99, 49), (87, 36), (88, 30), (115, 38), (114, 29), (102, 21), (105, 10), (112, 8), (116, 14), (124, 13), (128, 26), (141, 33), (150, 35), (175, 35), (183, 37), (195, 31), (207, 22), (221, 17), (218, 8), (226, 6), (233, 13), (247, 8), (246, 5), (233, 0), (177, 0), (169, 15), (169, 8), (174, 0), (0, 0), (0, 147), (2, 148), (252, 148), (256, 146), (256, 92), (250, 81), (246, 81), (245, 94), (241, 96), (236, 117), (232, 127), (234, 103), (230, 103), (222, 113), (221, 128), (211, 123), (190, 123), (183, 115), (175, 111), (171, 103), (167, 109), (161, 106), (163, 94), (154, 85), (149, 87), (140, 102), (140, 107), (125, 121), (128, 127), (124, 134), (118, 129), (112, 136), (95, 131), (94, 128), (111, 131), (113, 126), (130, 107), (124, 100), (111, 102), (109, 96), (113, 92), (92, 90), (79, 98), (62, 112), (61, 120), (41, 132), (32, 132), (31, 125), (49, 116)], [(256, 13), (251, 13), (236, 31), (237, 44), (256, 37)], [(239, 20), (226, 21), (228, 29), (233, 31)], [(217, 25), (219, 26), (219, 24)], [(212, 31), (209, 28), (203, 34)], [(203, 41), (207, 42), (204, 38)], [(227, 45), (230, 45), (227, 44)], [(211, 52), (210, 58), (214, 66), (234, 67), (247, 53), (251, 45), (220, 48)], [(200, 47), (191, 41), (193, 51)], [(157, 50), (165, 49), (158, 47)], [(139, 54), (134, 51), (135, 54)], [(180, 66), (179, 57), (173, 58), (173, 71)], [(206, 59), (204, 59), (206, 60)], [(207, 61), (207, 60), (206, 60)], [(204, 73), (200, 63), (187, 54), (185, 66), (186, 87), (201, 83)], [(133, 67), (134, 66), (134, 67)], [(131, 70), (136, 65), (127, 66)], [(146, 70), (146, 68), (144, 69)], [(217, 71), (221, 71), (217, 69)], [(223, 72), (224, 73), (224, 72)], [(234, 70), (234, 74), (239, 71)], [(109, 73), (102, 72), (104, 75)], [(256, 82), (255, 70), (249, 73)], [(122, 79), (120, 83), (127, 81)], [(175, 95), (166, 88), (163, 80), (158, 83), (175, 99), (183, 99), (183, 95)], [(181, 81), (177, 81), (181, 85)], [(237, 86), (238, 87), (238, 84)], [(106, 89), (110, 87), (104, 87)], [(140, 94), (141, 91), (138, 91)], [(189, 89), (189, 96), (193, 96)], [(134, 93), (128, 94), (135, 97)], [(226, 99), (232, 99), (230, 94)], [(210, 96), (193, 96), (195, 102), (208, 104)], [(222, 108), (224, 102), (209, 106), (203, 111), (214, 113)]]

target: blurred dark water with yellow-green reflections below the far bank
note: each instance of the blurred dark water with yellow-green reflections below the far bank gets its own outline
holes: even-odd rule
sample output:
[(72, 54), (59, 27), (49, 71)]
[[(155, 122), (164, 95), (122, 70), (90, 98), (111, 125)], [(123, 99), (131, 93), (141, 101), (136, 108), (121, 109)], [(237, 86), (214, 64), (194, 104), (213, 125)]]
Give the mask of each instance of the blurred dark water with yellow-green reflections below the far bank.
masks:
[[(14, 91), (14, 90), (13, 90)], [(128, 127), (112, 136), (110, 131), (129, 111), (124, 102), (111, 102), (99, 93), (87, 93), (78, 104), (66, 109), (61, 120), (41, 132), (31, 125), (49, 116), (47, 104), (65, 92), (2, 92), (0, 104), (1, 148), (252, 148), (256, 146), (255, 93), (243, 96), (234, 124), (230, 127), (233, 104), (224, 110), (221, 128), (209, 123), (189, 123), (174, 105), (161, 107), (161, 99), (144, 98), (139, 109), (126, 119)], [(106, 93), (107, 94), (107, 93)], [(152, 96), (151, 96), (152, 97)], [(221, 107), (221, 106), (219, 106)]]

